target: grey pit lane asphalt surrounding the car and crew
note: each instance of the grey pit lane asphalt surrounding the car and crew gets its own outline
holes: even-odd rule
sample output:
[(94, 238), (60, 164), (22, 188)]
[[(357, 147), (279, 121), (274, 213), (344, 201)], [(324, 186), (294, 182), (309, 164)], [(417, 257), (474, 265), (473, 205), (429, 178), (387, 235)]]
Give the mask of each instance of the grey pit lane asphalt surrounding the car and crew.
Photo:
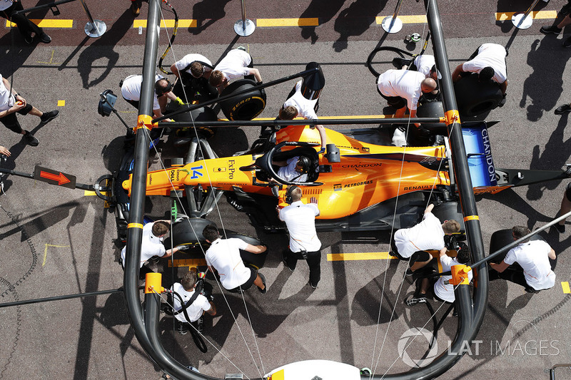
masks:
[[(89, 5), (91, 12), (102, 15), (99, 16), (101, 18), (106, 12), (111, 14), (113, 7), (118, 7), (113, 5), (98, 9), (94, 4)], [(554, 0), (546, 6), (542, 4), (545, 9), (554, 10), (561, 5), (562, 1)], [(450, 9), (453, 2), (440, 3), (441, 10), (445, 6)], [(528, 5), (519, 6), (520, 9), (514, 10), (525, 10)], [(393, 7), (394, 4), (386, 4), (384, 9), (388, 11), (385, 13), (390, 14)], [(126, 17), (121, 14), (123, 7), (120, 8), (116, 13), (118, 16), (109, 16), (108, 19)], [(378, 96), (375, 78), (365, 68), (364, 62), (383, 34), (378, 26), (375, 33), (371, 27), (363, 34), (353, 34), (362, 39), (357, 41), (357, 37), (355, 40), (350, 38), (347, 47), (337, 51), (334, 42), (339, 38), (339, 33), (333, 29), (328, 35), (327, 28), (340, 19), (339, 15), (343, 14), (341, 8), (343, 6), (335, 14), (337, 18), (330, 16), (330, 21), (317, 29), (320, 38), (314, 44), (299, 38), (298, 28), (295, 31), (258, 29), (251, 38), (236, 41), (231, 31), (235, 17), (226, 16), (231, 22), (226, 28), (216, 29), (216, 33), (213, 33), (213, 29), (222, 21), (209, 26), (197, 36), (179, 32), (177, 42), (181, 43), (176, 44), (173, 51), (179, 58), (185, 53), (198, 51), (216, 61), (231, 43), (243, 44), (251, 52), (265, 81), (301, 71), (308, 61), (318, 61), (323, 66), (327, 81), (321, 95), (319, 115), (381, 113), (385, 102)], [(500, 9), (500, 4), (488, 4), (487, 8), (494, 12)], [(300, 9), (305, 9), (305, 5)], [(411, 14), (419, 13), (417, 10)], [(571, 136), (565, 128), (568, 118), (553, 115), (552, 110), (571, 98), (568, 83), (563, 82), (563, 78), (569, 77), (570, 68), (565, 65), (571, 51), (560, 47), (561, 37), (538, 33), (541, 20), (536, 20), (531, 29), (520, 31), (515, 36), (513, 28), (495, 24), (490, 17), (485, 22), (470, 18), (472, 20), (474, 30), (471, 33), (455, 35), (449, 30), (460, 29), (458, 17), (450, 23), (443, 18), (451, 68), (464, 61), (481, 43), (492, 41), (510, 45), (507, 104), (492, 111), (487, 118), (502, 120), (502, 123), (490, 128), (496, 167), (557, 170), (570, 162), (568, 151)], [(116, 26), (117, 22), (119, 24)], [(19, 44), (15, 57), (6, 53), (9, 35), (0, 38), (4, 55), (0, 61), (1, 73), (8, 76), (15, 72), (14, 88), (41, 110), (59, 108), (61, 111), (59, 118), (41, 128), (36, 128), (38, 120), (33, 116), (20, 118), (24, 128), (34, 129), (40, 140), (37, 148), (25, 146), (14, 133), (0, 128), (0, 145), (12, 152), (9, 168), (31, 173), (34, 165), (41, 165), (74, 174), (82, 183), (92, 183), (100, 175), (117, 168), (124, 128), (114, 115), (101, 118), (96, 113), (98, 93), (106, 88), (118, 93), (121, 78), (140, 73), (143, 48), (142, 37), (138, 35), (135, 37), (139, 38), (137, 40), (130, 40), (126, 36), (123, 42), (119, 30), (127, 30), (125, 33), (129, 34), (131, 29), (126, 29), (121, 21), (116, 23), (108, 22), (113, 34), (109, 33), (107, 39), (89, 40), (79, 47), (79, 42), (74, 42), (74, 45), (71, 41), (75, 41), (74, 38), (83, 41), (81, 28), (49, 31), (54, 37), (50, 45), (30, 48)], [(385, 44), (403, 48), (403, 36), (420, 30), (420, 25), (406, 25), (398, 36), (387, 38)], [(470, 34), (481, 37), (467, 37)], [(161, 38), (166, 38), (165, 35), (162, 34)], [(112, 46), (114, 39), (111, 37), (119, 41), (116, 46)], [(292, 39), (288, 40), (290, 37)], [(191, 42), (195, 38), (201, 43), (199, 47)], [(272, 41), (273, 38), (276, 39)], [(210, 43), (203, 44), (205, 41)], [(417, 48), (420, 49), (420, 46)], [(378, 56), (376, 67), (379, 70), (391, 68), (392, 58)], [(166, 60), (168, 64), (172, 61), (172, 58)], [(290, 86), (290, 83), (286, 83), (268, 89), (268, 107), (261, 116), (276, 115)], [(57, 107), (60, 100), (66, 101), (65, 106)], [(136, 120), (134, 110), (121, 99), (117, 104), (123, 118), (133, 123)], [(257, 128), (228, 131), (233, 138), (226, 141), (223, 133), (219, 133), (212, 145), (219, 155), (233, 153), (247, 148), (257, 132)], [(559, 208), (566, 184), (567, 181), (547, 183), (483, 197), (477, 207), (485, 245), (496, 230), (516, 224), (533, 228), (548, 222)], [(161, 200), (154, 201), (149, 214), (162, 216), (166, 210), (163, 203)], [(115, 262), (118, 247), (113, 244), (115, 222), (113, 215), (103, 208), (101, 200), (84, 196), (81, 190), (10, 178), (6, 182), (6, 194), (0, 195), (0, 205), (3, 247), (0, 261), (3, 297), (0, 302), (121, 286), (123, 273)], [(224, 201), (219, 205), (225, 227), (256, 234), (248, 226), (245, 215), (235, 212)], [(218, 222), (215, 214), (209, 218)], [(398, 372), (409, 369), (398, 359), (398, 341), (407, 329), (423, 327), (430, 316), (422, 305), (413, 308), (403, 305), (403, 299), (413, 292), (413, 287), (405, 281), (399, 293), (405, 266), (394, 260), (325, 261), (325, 255), (332, 252), (388, 250), (386, 232), (365, 236), (379, 242), (357, 240), (356, 234), (320, 234), (324, 245), (323, 274), (314, 292), (305, 285), (308, 270), (303, 263), (293, 274), (283, 269), (278, 252), (286, 244), (285, 237), (261, 236), (271, 246), (270, 257), (263, 268), (268, 280), (268, 293), (261, 295), (254, 289), (246, 294), (248, 312), (263, 359), (261, 372), (303, 359), (331, 359), (358, 367), (371, 366), (380, 286), (385, 272), (387, 286), (383, 292), (375, 360), (381, 345), (383, 351), (375, 372), (382, 374), (387, 370)], [(489, 308), (477, 337), (482, 343), (472, 346), (471, 355), (461, 359), (453, 369), (441, 376), (442, 379), (492, 376), (511, 379), (515, 374), (527, 379), (544, 379), (547, 378), (545, 369), (571, 362), (568, 348), (570, 333), (567, 331), (570, 296), (562, 292), (561, 286), (561, 282), (569, 279), (569, 232), (557, 235), (551, 231), (546, 236), (547, 242), (559, 254), (555, 287), (530, 295), (516, 285), (492, 282)], [(29, 275), (26, 276), (26, 273)], [(238, 314), (238, 324), (248, 345), (254, 349), (241, 300), (226, 295), (233, 311)], [(230, 355), (232, 361), (248, 376), (259, 376), (219, 291), (215, 297), (221, 316), (213, 319), (214, 326), (208, 322), (212, 319), (206, 317), (206, 337), (212, 339), (224, 354)], [(393, 322), (390, 323), (386, 342), (382, 344), (393, 307), (396, 308)], [(154, 379), (160, 376), (133, 337), (121, 294), (4, 308), (0, 309), (0, 316), (3, 321), (0, 324), (0, 337), (5, 347), (0, 351), (2, 378)], [(427, 328), (431, 329), (430, 323)], [(173, 336), (171, 329), (171, 319), (164, 317), (161, 333), (165, 346), (181, 363), (193, 364), (204, 374), (219, 378), (226, 373), (236, 372), (213, 347), (209, 346), (208, 354), (201, 354), (189, 335), (181, 337), (175, 333)], [(440, 352), (445, 350), (448, 340), (453, 339), (455, 329), (455, 318), (448, 317), (438, 336)], [(506, 351), (508, 342), (510, 349)], [(475, 346), (478, 346), (477, 353)], [(419, 348), (425, 347), (423, 342)], [(408, 353), (418, 358), (423, 350), (409, 349)], [(257, 354), (254, 357), (257, 358)], [(390, 367), (393, 361), (396, 362)]]

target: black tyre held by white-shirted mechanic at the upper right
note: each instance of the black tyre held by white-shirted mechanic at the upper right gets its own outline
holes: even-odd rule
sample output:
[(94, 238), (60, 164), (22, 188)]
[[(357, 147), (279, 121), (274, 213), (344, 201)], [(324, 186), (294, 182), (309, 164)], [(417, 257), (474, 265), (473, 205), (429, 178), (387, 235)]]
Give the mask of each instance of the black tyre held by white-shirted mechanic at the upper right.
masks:
[(500, 85), (494, 81), (480, 82), (476, 74), (460, 78), (454, 83), (460, 118), (476, 116), (496, 108), (502, 101)]

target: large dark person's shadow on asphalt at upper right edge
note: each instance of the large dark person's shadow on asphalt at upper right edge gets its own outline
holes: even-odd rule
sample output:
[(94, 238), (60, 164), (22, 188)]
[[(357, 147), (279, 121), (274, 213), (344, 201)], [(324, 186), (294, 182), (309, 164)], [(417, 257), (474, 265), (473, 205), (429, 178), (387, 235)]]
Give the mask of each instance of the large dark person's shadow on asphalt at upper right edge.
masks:
[[(527, 64), (533, 68), (525, 78), (520, 108), (527, 106), (527, 120), (537, 121), (543, 111), (556, 106), (563, 91), (563, 72), (570, 52), (561, 48), (561, 41), (546, 36), (536, 39), (527, 53)], [(550, 62), (548, 66), (545, 62)]]

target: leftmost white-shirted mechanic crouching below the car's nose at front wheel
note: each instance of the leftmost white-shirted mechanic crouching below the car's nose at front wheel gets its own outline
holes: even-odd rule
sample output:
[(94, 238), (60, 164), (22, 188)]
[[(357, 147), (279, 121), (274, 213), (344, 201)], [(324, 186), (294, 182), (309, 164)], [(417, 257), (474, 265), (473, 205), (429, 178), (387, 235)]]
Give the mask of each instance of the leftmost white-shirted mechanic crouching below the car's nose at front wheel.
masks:
[[(144, 278), (145, 274), (153, 273), (151, 268), (144, 266), (145, 262), (151, 257), (166, 258), (171, 257), (173, 253), (178, 251), (186, 251), (190, 246), (181, 245), (174, 247), (172, 250), (167, 250), (163, 245), (163, 239), (168, 233), (169, 227), (171, 225), (170, 220), (158, 220), (153, 223), (147, 223), (143, 226), (143, 237), (141, 238), (141, 272), (139, 274), (140, 278)], [(127, 251), (127, 246), (123, 247), (121, 250), (121, 261), (120, 264), (125, 269), (125, 255)]]

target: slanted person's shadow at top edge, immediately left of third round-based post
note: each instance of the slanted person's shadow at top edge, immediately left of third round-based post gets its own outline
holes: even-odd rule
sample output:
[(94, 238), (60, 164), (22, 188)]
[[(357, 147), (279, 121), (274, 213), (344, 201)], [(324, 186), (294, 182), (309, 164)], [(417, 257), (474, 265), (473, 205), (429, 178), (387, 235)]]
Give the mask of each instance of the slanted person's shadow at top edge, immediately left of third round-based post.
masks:
[(375, 16), (385, 8), (387, 0), (355, 0), (348, 8), (340, 11), (335, 19), (335, 31), (340, 34), (333, 43), (335, 51), (343, 51), (348, 46), (350, 36), (360, 36), (375, 23)]

